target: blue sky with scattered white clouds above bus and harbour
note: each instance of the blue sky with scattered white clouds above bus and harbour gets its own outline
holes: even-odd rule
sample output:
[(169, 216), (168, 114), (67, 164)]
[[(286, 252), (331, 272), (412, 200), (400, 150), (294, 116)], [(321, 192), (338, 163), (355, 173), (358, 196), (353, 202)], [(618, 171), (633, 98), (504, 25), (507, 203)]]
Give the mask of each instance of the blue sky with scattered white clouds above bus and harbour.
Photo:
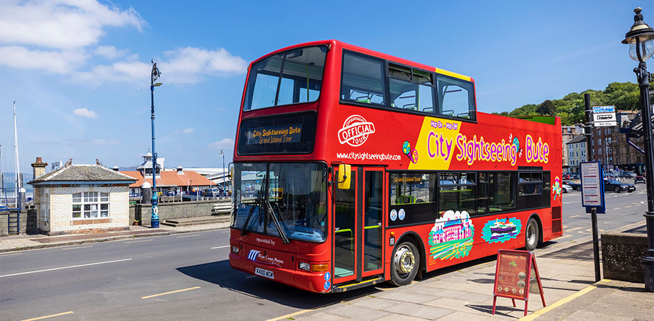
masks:
[[(356, 2), (356, 3), (355, 3)], [(16, 100), (21, 172), (47, 163), (222, 167), (233, 154), (249, 62), (321, 39), (475, 79), (479, 111), (635, 82), (621, 44), (650, 1), (0, 1), (0, 142), (12, 167)], [(650, 60), (650, 63), (653, 60)], [(654, 71), (654, 64), (651, 70)]]

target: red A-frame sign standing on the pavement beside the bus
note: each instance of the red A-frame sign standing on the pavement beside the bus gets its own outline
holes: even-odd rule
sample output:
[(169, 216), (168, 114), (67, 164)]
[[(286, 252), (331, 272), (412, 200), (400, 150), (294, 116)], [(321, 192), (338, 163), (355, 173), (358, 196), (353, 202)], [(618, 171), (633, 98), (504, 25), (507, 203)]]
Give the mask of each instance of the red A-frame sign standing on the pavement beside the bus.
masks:
[(495, 267), (495, 286), (493, 287), (493, 314), (495, 314), (497, 297), (509, 297), (513, 302), (513, 306), (515, 306), (515, 299), (524, 300), (524, 315), (527, 315), (532, 269), (536, 274), (542, 306), (545, 306), (545, 295), (542, 293), (536, 257), (533, 256), (533, 253), (525, 250), (498, 251), (497, 266)]

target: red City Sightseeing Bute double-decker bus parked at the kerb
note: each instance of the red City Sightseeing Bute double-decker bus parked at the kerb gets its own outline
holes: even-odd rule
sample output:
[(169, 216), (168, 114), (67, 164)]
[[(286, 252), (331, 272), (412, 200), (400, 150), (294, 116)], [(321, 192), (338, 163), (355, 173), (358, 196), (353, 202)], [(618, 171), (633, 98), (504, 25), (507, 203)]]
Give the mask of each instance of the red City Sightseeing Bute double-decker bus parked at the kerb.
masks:
[(335, 40), (265, 55), (242, 96), (229, 263), (333, 293), (532, 250), (563, 235), (560, 127), (480, 113), (471, 77)]

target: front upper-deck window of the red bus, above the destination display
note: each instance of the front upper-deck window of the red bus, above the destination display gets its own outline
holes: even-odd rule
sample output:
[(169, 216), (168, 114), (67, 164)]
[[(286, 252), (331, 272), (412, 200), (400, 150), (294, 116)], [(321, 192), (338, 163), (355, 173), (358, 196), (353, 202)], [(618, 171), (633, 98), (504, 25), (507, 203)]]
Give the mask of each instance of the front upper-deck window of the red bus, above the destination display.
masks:
[(243, 110), (313, 102), (322, 86), (327, 46), (295, 48), (252, 65)]

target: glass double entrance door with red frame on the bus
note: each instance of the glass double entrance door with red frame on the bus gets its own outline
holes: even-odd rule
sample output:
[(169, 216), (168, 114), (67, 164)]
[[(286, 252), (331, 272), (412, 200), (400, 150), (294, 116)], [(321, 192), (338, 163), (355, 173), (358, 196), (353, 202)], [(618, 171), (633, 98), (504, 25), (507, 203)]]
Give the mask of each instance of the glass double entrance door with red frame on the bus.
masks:
[(383, 273), (384, 169), (352, 167), (348, 190), (334, 189), (334, 284)]

